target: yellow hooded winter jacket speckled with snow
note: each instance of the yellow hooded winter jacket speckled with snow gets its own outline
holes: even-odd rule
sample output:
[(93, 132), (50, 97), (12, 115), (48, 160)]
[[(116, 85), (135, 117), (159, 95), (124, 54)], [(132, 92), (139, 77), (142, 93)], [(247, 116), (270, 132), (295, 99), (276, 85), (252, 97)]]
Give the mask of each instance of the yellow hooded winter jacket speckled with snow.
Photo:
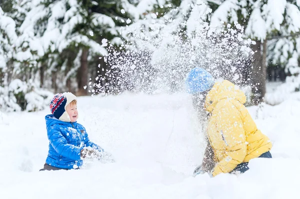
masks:
[(231, 82), (215, 83), (205, 98), (210, 112), (207, 137), (214, 151), (216, 166), (212, 176), (231, 172), (238, 164), (269, 151), (269, 139), (263, 135), (243, 105), (244, 93)]

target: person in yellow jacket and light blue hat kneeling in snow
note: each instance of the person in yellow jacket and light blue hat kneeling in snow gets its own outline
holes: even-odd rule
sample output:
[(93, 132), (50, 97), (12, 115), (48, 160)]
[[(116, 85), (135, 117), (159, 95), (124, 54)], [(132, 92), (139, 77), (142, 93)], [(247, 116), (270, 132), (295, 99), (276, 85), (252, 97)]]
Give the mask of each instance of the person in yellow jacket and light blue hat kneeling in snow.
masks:
[(246, 97), (237, 86), (227, 80), (215, 83), (211, 74), (199, 67), (189, 72), (185, 83), (187, 92), (193, 95), (194, 107), (202, 113), (201, 118), (207, 117), (208, 145), (194, 176), (205, 172), (213, 177), (243, 173), (249, 169), (249, 160), (271, 158), (272, 144), (257, 129), (243, 105)]

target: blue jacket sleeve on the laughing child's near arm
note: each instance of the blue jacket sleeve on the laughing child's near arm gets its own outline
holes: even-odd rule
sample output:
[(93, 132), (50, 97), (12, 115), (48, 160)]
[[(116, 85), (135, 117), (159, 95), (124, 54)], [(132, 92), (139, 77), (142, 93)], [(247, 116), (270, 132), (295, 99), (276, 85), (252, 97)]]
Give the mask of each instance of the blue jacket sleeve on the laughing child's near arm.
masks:
[(59, 155), (71, 160), (80, 160), (82, 148), (68, 144), (59, 129), (48, 130), (47, 134), (50, 144)]

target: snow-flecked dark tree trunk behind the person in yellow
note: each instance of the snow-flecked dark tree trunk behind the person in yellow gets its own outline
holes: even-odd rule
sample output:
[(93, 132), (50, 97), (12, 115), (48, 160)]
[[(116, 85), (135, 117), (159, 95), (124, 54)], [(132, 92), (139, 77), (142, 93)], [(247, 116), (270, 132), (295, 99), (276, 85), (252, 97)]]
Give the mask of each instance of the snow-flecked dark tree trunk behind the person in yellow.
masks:
[(266, 40), (262, 43), (256, 41), (252, 46), (254, 51), (252, 66), (250, 68), (250, 79), (252, 88), (252, 103), (257, 105), (263, 101), (265, 94), (266, 79)]

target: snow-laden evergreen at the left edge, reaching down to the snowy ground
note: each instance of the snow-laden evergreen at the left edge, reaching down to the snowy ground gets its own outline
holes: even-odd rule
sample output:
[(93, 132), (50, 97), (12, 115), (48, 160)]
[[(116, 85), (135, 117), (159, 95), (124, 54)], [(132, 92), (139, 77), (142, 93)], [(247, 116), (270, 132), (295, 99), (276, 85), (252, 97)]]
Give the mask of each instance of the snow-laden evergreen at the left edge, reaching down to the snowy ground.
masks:
[(6, 12), (0, 7), (0, 111), (41, 110), (52, 95), (36, 88), (32, 81), (16, 79), (15, 54), (20, 49), (15, 43), (21, 19), (18, 8), (15, 1), (5, 5)]

